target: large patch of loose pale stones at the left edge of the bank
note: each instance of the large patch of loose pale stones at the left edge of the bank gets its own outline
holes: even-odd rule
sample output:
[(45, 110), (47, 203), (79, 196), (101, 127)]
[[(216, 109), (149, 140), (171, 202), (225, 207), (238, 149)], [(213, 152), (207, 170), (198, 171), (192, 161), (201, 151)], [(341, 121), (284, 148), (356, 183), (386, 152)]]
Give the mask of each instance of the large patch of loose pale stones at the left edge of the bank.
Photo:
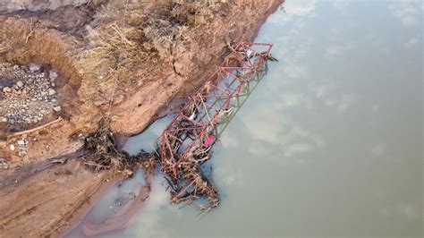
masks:
[(56, 78), (57, 72), (45, 72), (35, 64), (0, 64), (0, 121), (38, 123), (45, 115), (60, 112), (54, 89)]

